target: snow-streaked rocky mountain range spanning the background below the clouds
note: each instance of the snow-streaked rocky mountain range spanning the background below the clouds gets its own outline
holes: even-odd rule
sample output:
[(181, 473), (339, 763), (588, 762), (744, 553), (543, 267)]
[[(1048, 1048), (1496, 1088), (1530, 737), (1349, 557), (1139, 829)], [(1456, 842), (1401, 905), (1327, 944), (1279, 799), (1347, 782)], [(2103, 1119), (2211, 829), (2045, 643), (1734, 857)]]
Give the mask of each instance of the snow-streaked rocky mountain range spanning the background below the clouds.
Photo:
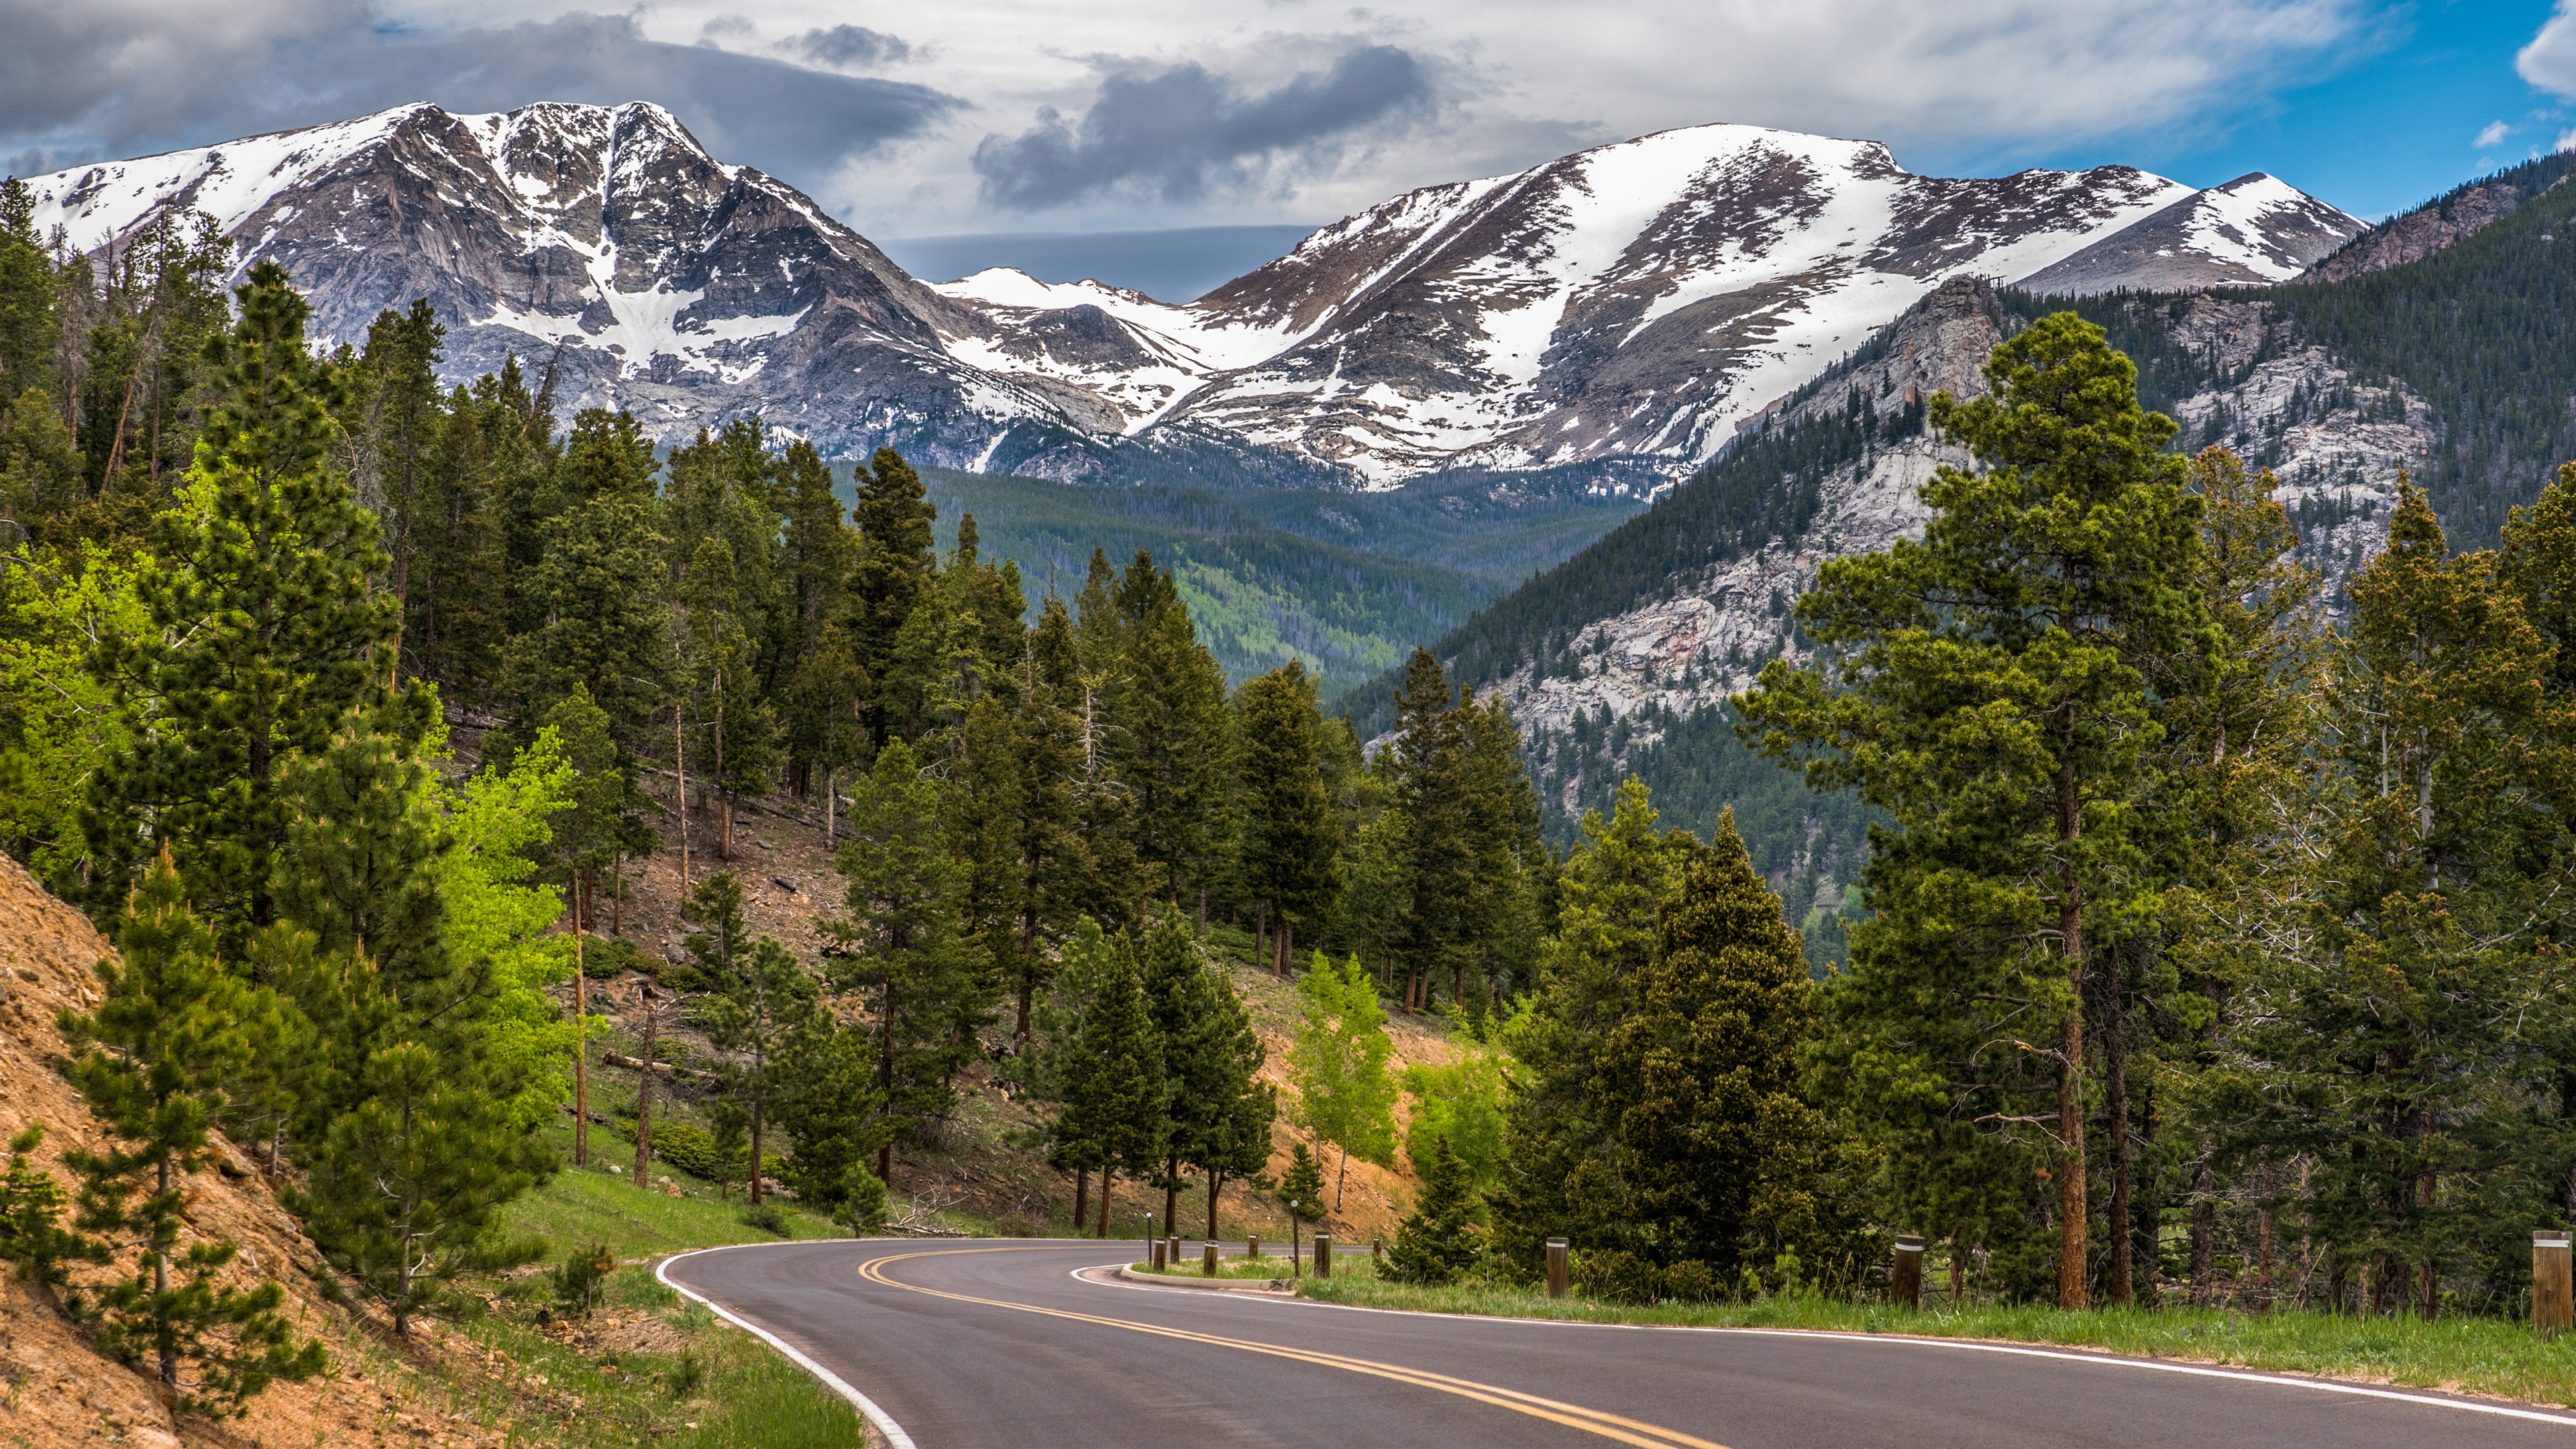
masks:
[(2349, 235), (2321, 242), (2349, 217), (2269, 178), (1942, 180), (1875, 142), (1692, 126), (1399, 196), (1172, 307), (1015, 271), (922, 284), (644, 103), (402, 106), (31, 188), (82, 250), (211, 214), (245, 266), (296, 273), (327, 338), (428, 297), (453, 376), (559, 356), (562, 397), (662, 438), (760, 413), (840, 456), (1110, 480), (1185, 451), (1345, 487), (1677, 477), (1953, 276), (2050, 276), (2164, 227), (2138, 242), (2159, 266), (2251, 281)]

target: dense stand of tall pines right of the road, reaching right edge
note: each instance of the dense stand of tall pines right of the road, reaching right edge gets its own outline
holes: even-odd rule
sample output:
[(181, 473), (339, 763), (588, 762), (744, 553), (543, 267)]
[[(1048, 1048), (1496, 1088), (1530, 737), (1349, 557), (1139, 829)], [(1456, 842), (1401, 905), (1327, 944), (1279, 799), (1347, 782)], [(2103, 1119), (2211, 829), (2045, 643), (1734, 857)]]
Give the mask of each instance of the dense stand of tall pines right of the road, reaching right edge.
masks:
[(1888, 1217), (2063, 1305), (2512, 1302), (2576, 1212), (2576, 472), (2470, 554), (2401, 480), (2336, 634), (2272, 480), (2164, 451), (2097, 327), (1989, 379), (1932, 407), (1981, 467), (1739, 701), (1888, 812), (1816, 1057)]

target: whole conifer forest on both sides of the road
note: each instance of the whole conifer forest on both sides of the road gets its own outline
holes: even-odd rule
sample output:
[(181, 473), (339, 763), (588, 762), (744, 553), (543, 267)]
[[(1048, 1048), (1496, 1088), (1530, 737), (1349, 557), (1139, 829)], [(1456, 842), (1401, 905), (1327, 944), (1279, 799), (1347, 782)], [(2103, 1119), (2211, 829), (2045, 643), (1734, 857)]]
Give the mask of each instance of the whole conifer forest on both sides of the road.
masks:
[[(325, 1372), (180, 1245), (214, 1137), (410, 1333), (567, 1248), (502, 1209), (564, 1168), (603, 959), (716, 1049), (721, 1142), (670, 1152), (860, 1235), (969, 1075), (1100, 1235), (1110, 1183), (1216, 1235), (1226, 1183), (1329, 1217), (1404, 1160), (1417, 1284), (1566, 1238), (1610, 1297), (1860, 1294), (1914, 1232), (1999, 1302), (2509, 1318), (2576, 1214), (2576, 464), (2478, 549), (2406, 480), (2329, 588), (2262, 467), (2045, 315), (1906, 423), (1973, 459), (1922, 536), (1826, 562), (1814, 650), (1695, 724), (1744, 822), (1625, 779), (1551, 833), (1486, 660), (1327, 712), (1303, 663), (1229, 678), (1167, 559), (1048, 585), (891, 449), (659, 449), (546, 356), (443, 389), (428, 304), (317, 348), (209, 229), (28, 217), (10, 183), (0, 835), (118, 949), (59, 1062), (113, 1150), (23, 1137), (0, 1253), (206, 1410)], [(1795, 531), (1808, 443), (1641, 529)], [(1747, 838), (1783, 792), (1865, 856), (1821, 928)], [(747, 923), (752, 807), (832, 851), (819, 951)], [(675, 843), (662, 962), (621, 902)], [(1213, 926), (1293, 982), (1278, 1049)], [(1473, 1052), (1399, 1070), (1388, 1016)]]

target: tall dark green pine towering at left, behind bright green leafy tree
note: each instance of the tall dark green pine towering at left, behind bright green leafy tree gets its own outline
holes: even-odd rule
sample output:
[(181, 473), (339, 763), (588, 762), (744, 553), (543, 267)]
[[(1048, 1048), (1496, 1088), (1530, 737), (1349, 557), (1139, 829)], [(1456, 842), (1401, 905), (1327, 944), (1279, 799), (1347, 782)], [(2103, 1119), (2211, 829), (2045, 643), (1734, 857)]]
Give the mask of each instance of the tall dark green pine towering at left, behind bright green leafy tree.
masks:
[(106, 637), (93, 670), (149, 727), (100, 763), (82, 812), (82, 900), (113, 918), (167, 846), (227, 951), (276, 918), (291, 815), (286, 763), (327, 745), (384, 694), (394, 611), (371, 590), (376, 521), (330, 472), (337, 371), (304, 348), (304, 299), (276, 263), (250, 268), (242, 317), (211, 348), (216, 407), (198, 503), (165, 513), (142, 578), (152, 629)]

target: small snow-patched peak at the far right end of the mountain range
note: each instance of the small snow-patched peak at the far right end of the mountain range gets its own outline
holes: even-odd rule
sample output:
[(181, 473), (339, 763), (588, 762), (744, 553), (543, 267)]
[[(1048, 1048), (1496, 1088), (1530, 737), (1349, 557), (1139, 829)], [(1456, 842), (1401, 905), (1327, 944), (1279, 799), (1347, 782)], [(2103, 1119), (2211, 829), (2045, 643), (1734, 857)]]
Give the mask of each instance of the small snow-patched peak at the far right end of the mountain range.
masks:
[(2290, 281), (2370, 224), (2264, 173), (2195, 191), (2020, 281), (2043, 294), (2200, 291)]

